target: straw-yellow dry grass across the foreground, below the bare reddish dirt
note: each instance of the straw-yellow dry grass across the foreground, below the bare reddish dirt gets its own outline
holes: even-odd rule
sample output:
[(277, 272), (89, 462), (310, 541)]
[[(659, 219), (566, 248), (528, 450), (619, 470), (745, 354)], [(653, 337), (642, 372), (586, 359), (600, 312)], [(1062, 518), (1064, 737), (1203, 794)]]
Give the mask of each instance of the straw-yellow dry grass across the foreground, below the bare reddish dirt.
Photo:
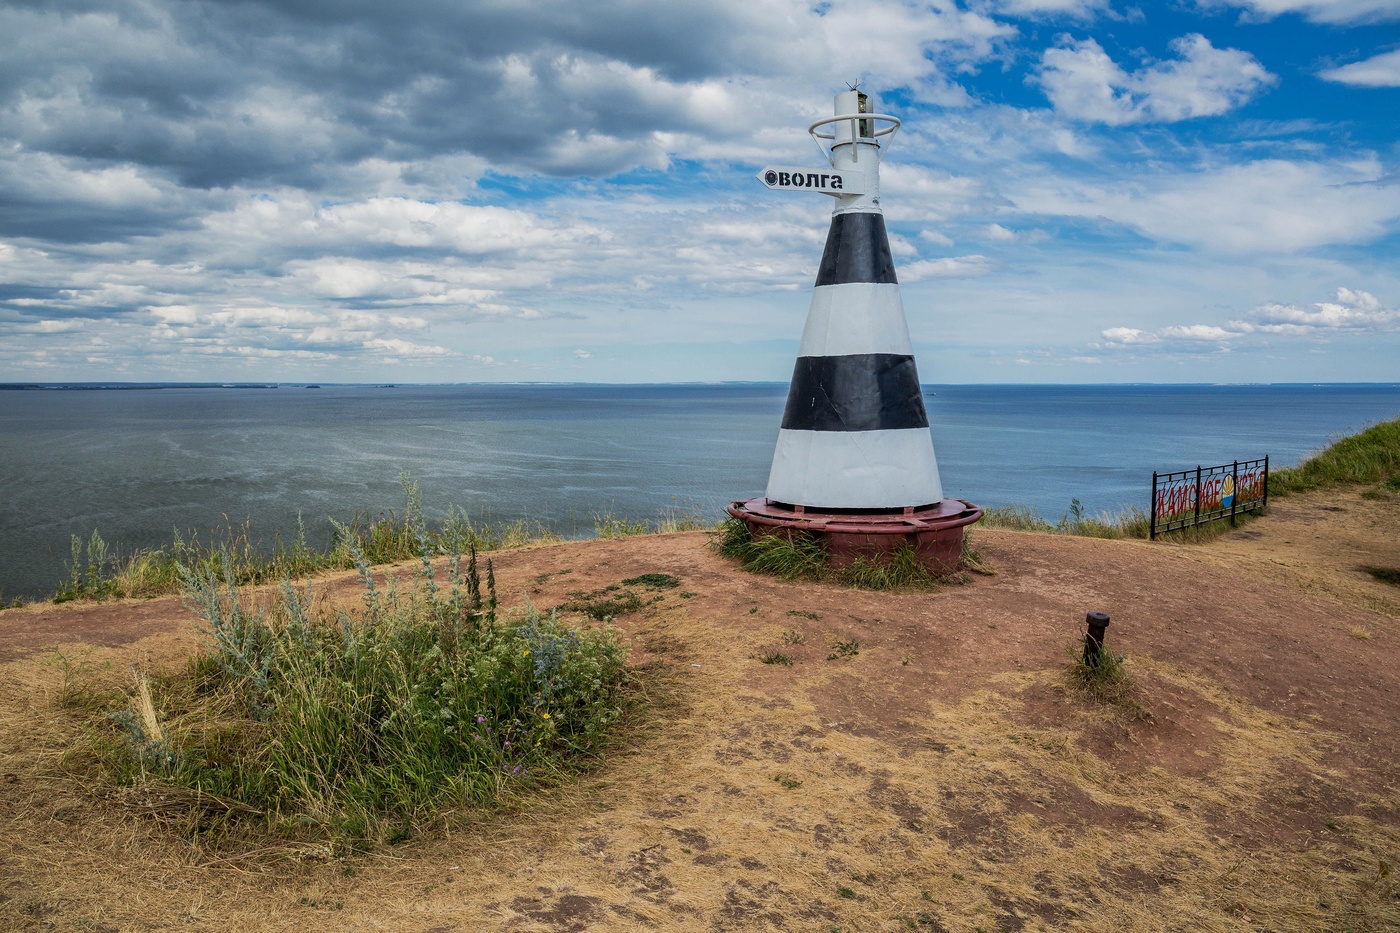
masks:
[[(731, 675), (690, 668), (687, 658), (713, 657), (703, 626), (672, 619), (640, 636), (672, 656), (665, 728), (634, 735), (633, 751), (546, 800), (357, 860), (288, 843), (210, 850), (153, 818), (161, 801), (151, 790), (85, 793), (63, 775), (76, 723), (49, 702), (57, 685), (31, 682), (18, 709), (6, 698), (0, 768), (22, 770), (31, 794), (7, 801), (7, 838), (24, 842), (4, 862), (13, 877), (43, 878), (43, 890), (11, 890), (0, 918), (14, 929), (41, 929), (53, 911), (116, 929), (153, 916), (193, 929), (329, 929), (372, 915), (484, 929), (515, 916), (533, 918), (521, 929), (567, 929), (545, 919), (570, 911), (612, 918), (609, 929), (703, 929), (728, 891), (729, 929), (930, 929), (935, 918), (987, 930), (1400, 922), (1385, 870), (1386, 853), (1400, 850), (1394, 801), (1361, 801), (1302, 856), (1280, 846), (1242, 814), (1305, 793), (1299, 773), (1340, 793), (1323, 768), (1336, 737), (1184, 671), (1145, 665), (1151, 682), (1214, 707), (1200, 726), (1214, 733), (1208, 775), (1134, 773), (1086, 751), (1086, 734), (1121, 723), (1077, 703), (1053, 671), (1002, 675), (930, 709), (890, 755), (809, 702), (763, 709), (767, 698)], [(1054, 698), (1070, 716), (1053, 726), (1028, 717), (1028, 696)], [(20, 724), (29, 742), (17, 748)], [(773, 754), (804, 735), (799, 751)], [(725, 806), (736, 800), (743, 806)], [(57, 853), (60, 870), (43, 864)], [(1106, 887), (1116, 897), (1105, 898)]]

